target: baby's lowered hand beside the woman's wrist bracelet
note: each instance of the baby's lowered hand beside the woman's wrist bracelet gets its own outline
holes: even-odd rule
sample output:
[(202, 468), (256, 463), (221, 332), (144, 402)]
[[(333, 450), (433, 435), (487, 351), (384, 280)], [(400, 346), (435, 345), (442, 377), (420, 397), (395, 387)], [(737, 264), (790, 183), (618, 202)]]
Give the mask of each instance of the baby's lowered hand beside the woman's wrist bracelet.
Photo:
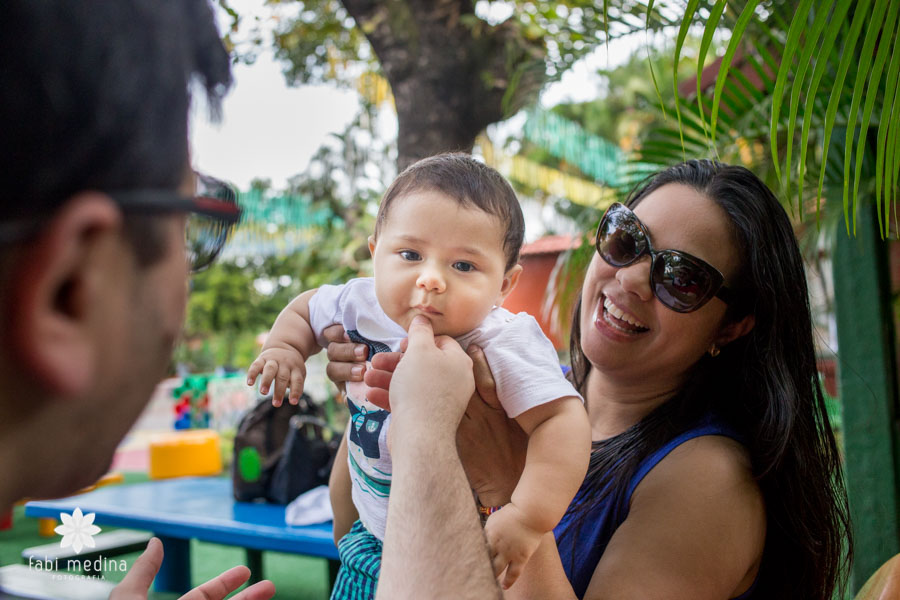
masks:
[(501, 583), (504, 590), (508, 590), (522, 574), (522, 569), (546, 533), (534, 529), (528, 523), (525, 513), (510, 503), (488, 517), (484, 526), (494, 575), (499, 577), (506, 570)]

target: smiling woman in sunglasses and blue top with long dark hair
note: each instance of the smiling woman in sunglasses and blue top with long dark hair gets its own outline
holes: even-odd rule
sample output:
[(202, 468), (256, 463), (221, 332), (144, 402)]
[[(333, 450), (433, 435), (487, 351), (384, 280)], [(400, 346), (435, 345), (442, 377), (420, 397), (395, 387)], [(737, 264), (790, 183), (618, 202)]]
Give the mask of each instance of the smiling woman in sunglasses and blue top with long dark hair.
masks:
[[(571, 339), (590, 467), (507, 597), (830, 598), (843, 585), (847, 500), (805, 282), (787, 215), (744, 168), (689, 161), (609, 209)], [(479, 404), (460, 448), (502, 503), (516, 470), (496, 458), (515, 452), (484, 435)]]

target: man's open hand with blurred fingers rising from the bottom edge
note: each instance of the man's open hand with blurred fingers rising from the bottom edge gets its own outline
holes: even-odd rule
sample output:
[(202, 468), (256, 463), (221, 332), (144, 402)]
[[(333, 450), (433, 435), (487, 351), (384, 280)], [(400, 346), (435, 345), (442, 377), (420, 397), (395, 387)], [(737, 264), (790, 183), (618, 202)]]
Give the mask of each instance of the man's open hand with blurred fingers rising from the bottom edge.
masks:
[[(162, 565), (162, 542), (150, 540), (131, 570), (109, 595), (110, 600), (147, 600), (147, 592), (153, 578)], [(250, 577), (250, 569), (244, 566), (228, 569), (181, 597), (181, 600), (223, 600), (228, 594), (241, 587)], [(248, 587), (231, 600), (268, 600), (275, 596), (275, 585), (271, 581), (260, 581)]]

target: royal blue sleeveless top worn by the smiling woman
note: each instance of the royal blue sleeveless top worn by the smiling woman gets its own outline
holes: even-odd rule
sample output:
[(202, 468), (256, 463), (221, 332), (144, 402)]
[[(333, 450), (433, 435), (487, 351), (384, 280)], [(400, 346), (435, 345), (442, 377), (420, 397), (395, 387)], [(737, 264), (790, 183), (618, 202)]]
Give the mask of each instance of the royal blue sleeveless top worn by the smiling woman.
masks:
[[(575, 517), (566, 514), (556, 526), (553, 533), (556, 536), (556, 545), (559, 548), (559, 556), (562, 559), (566, 576), (579, 598), (584, 597), (588, 584), (600, 557), (606, 551), (606, 546), (613, 533), (619, 528), (628, 516), (628, 508), (631, 504), (631, 495), (635, 488), (644, 479), (647, 473), (659, 464), (676, 447), (684, 442), (704, 435), (722, 435), (743, 443), (741, 436), (713, 415), (707, 415), (697, 425), (675, 436), (669, 442), (660, 447), (644, 459), (638, 466), (626, 489), (616, 490), (606, 496), (606, 499), (594, 504), (580, 517), (581, 526), (573, 526)], [(582, 500), (584, 484), (575, 496), (576, 501)], [(577, 535), (577, 539), (575, 536)], [(756, 582), (749, 590), (733, 600), (752, 600)]]

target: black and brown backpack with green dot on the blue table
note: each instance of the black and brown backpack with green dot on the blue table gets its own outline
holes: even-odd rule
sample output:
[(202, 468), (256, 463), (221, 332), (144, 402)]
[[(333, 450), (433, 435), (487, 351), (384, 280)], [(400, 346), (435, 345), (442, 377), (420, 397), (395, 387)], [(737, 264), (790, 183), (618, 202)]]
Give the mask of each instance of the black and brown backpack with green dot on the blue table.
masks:
[(303, 394), (298, 405), (280, 407), (263, 398), (238, 424), (231, 478), (234, 499), (288, 504), (328, 483), (340, 437), (320, 408)]

